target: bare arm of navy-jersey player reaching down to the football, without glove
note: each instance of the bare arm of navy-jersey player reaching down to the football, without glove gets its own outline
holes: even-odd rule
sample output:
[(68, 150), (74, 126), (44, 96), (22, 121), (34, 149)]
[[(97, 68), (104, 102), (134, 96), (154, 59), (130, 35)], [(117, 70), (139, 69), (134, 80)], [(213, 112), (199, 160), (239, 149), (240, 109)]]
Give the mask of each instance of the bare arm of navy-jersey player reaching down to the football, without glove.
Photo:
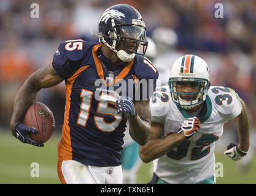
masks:
[(33, 104), (36, 99), (36, 94), (40, 89), (58, 85), (61, 81), (63, 81), (63, 78), (56, 73), (52, 64), (44, 66), (31, 74), (18, 90), (15, 97), (14, 111), (10, 121), (10, 130), (14, 129), (17, 122), (23, 120), (26, 109), (29, 105)]

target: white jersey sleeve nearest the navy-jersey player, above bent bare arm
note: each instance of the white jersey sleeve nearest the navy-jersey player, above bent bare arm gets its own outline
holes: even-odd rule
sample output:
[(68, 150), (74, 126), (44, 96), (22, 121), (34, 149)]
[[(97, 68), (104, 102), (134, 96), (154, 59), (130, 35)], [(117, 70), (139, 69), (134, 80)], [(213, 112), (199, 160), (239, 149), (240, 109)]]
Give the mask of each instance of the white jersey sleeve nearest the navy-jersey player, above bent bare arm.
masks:
[(150, 98), (150, 110), (153, 123), (165, 123), (169, 108), (169, 95), (166, 89), (167, 88), (162, 87), (160, 91), (153, 92), (153, 95)]

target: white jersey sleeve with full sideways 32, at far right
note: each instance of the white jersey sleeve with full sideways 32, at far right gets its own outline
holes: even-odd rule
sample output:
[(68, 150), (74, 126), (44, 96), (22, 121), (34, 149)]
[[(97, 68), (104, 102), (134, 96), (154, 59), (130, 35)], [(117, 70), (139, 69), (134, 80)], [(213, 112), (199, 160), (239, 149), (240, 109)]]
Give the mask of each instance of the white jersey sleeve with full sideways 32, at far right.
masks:
[(214, 98), (217, 110), (224, 118), (230, 120), (241, 113), (242, 105), (238, 94), (233, 89), (213, 86), (209, 90)]

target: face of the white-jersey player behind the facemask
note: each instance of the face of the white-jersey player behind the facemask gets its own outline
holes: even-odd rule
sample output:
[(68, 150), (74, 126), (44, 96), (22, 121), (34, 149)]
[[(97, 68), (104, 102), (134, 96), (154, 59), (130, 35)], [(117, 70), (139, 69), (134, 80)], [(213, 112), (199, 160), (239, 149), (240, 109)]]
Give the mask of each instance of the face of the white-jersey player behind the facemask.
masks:
[[(192, 94), (188, 93), (195, 93), (198, 92), (198, 83), (197, 82), (188, 82), (188, 81), (177, 81), (176, 83), (176, 91), (180, 93), (185, 93), (185, 94), (180, 94), (180, 98), (185, 100), (185, 101), (190, 101), (192, 98)], [(193, 100), (196, 99), (198, 94), (193, 94)]]

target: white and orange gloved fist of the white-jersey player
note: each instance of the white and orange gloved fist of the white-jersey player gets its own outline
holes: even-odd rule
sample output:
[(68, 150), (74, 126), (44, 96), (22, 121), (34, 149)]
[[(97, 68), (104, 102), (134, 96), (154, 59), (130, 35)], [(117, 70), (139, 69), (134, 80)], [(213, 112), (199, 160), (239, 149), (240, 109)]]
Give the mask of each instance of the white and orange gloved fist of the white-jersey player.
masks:
[(196, 116), (186, 118), (177, 133), (180, 134), (181, 132), (184, 132), (184, 135), (188, 140), (200, 129), (200, 126), (201, 123)]

